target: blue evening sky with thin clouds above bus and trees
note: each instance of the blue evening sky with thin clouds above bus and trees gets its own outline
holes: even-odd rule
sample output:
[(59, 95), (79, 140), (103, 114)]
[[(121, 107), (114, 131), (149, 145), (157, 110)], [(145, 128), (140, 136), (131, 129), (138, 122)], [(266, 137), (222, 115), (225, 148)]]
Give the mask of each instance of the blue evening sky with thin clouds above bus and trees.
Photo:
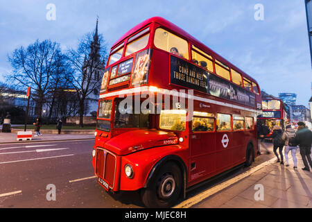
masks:
[[(55, 21), (46, 6), (56, 8)], [(257, 3), (263, 21), (256, 21)], [(311, 58), (304, 0), (0, 0), (0, 81), (10, 72), (8, 53), (35, 40), (76, 47), (83, 34), (99, 33), (108, 47), (133, 26), (154, 16), (164, 17), (255, 78), (275, 96), (297, 94), (297, 104), (311, 98)]]

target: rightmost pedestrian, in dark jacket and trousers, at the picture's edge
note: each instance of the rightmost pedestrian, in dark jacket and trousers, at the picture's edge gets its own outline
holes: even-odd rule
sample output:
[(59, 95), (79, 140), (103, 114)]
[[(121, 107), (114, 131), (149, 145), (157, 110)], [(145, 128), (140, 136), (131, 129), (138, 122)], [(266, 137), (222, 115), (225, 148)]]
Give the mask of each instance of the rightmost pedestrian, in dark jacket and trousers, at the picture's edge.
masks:
[[(295, 142), (299, 145), (300, 155), (304, 162), (304, 171), (310, 171), (309, 164), (312, 168), (311, 161), (311, 144), (312, 144), (312, 132), (306, 127), (304, 122), (298, 122), (298, 130), (295, 136)], [(309, 164), (308, 164), (309, 162)]]

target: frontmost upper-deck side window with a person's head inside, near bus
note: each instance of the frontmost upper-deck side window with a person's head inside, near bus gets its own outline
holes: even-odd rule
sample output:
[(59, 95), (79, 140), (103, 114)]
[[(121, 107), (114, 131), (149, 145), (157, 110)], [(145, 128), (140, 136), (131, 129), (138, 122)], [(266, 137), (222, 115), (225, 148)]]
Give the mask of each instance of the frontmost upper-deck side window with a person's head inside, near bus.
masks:
[(187, 41), (169, 33), (163, 28), (156, 29), (154, 44), (158, 49), (168, 51), (187, 60), (189, 59), (189, 45)]

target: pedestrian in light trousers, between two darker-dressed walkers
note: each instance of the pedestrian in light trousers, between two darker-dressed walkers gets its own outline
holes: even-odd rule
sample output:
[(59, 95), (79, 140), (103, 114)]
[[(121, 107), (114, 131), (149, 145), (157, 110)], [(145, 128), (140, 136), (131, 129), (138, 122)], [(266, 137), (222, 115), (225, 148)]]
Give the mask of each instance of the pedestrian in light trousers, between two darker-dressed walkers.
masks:
[(291, 128), (291, 125), (286, 126), (286, 130), (283, 133), (283, 136), (281, 139), (284, 140), (285, 142), (285, 150), (284, 150), (284, 155), (285, 155), (285, 164), (286, 167), (289, 167), (289, 162), (288, 162), (288, 153), (291, 151), (291, 155), (293, 156), (293, 169), (297, 169), (297, 144), (295, 143), (296, 132), (293, 128)]

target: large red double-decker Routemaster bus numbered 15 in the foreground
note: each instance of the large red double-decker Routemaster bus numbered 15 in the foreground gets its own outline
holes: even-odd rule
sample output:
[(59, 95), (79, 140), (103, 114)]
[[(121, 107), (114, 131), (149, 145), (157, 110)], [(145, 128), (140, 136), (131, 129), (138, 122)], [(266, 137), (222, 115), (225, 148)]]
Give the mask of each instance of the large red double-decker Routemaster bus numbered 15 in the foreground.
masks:
[(97, 181), (113, 193), (139, 190), (147, 207), (171, 207), (194, 185), (252, 164), (259, 111), (254, 78), (166, 19), (147, 19), (110, 50)]

